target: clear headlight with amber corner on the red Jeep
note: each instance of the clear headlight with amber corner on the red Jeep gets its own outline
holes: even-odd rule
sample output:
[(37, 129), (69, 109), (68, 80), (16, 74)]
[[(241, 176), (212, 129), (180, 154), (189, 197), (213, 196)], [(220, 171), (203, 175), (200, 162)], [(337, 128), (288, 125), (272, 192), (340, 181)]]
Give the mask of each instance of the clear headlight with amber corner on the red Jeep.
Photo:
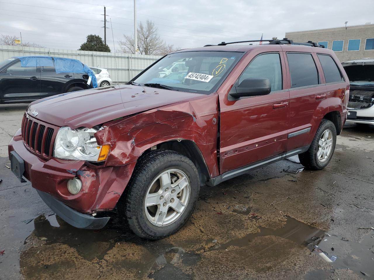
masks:
[(99, 146), (94, 128), (61, 127), (56, 135), (53, 156), (62, 159), (103, 161), (109, 154), (110, 145)]

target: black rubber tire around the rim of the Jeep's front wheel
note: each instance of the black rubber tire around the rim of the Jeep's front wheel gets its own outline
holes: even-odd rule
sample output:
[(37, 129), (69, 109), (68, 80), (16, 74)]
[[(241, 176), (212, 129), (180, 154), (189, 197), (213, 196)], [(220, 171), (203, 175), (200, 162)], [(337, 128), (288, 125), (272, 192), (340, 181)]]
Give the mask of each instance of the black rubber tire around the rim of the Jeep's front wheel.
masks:
[[(149, 165), (146, 165), (147, 167), (150, 167), (153, 162), (150, 162)], [(185, 158), (184, 161), (177, 161), (177, 160), (163, 160), (162, 162), (157, 162), (157, 167), (153, 169), (150, 173), (147, 175), (147, 179), (144, 181), (143, 178), (135, 178), (133, 186), (139, 186), (140, 182), (137, 182), (137, 180), (140, 180), (143, 184), (141, 192), (134, 192), (136, 195), (132, 195), (131, 193), (128, 193), (128, 198), (132, 199), (132, 203), (135, 203), (135, 212), (136, 217), (131, 217), (132, 219), (136, 219), (137, 223), (140, 225), (143, 231), (145, 231), (146, 234), (148, 234), (149, 239), (159, 239), (165, 236), (168, 236), (175, 231), (177, 231), (184, 223), (186, 223), (187, 219), (190, 217), (197, 201), (197, 196), (199, 194), (200, 190), (200, 182), (199, 177), (197, 174), (197, 170), (194, 167), (193, 163)], [(168, 169), (179, 169), (183, 171), (190, 181), (190, 197), (188, 199), (188, 203), (186, 206), (186, 209), (182, 213), (182, 215), (178, 218), (177, 221), (175, 221), (172, 224), (166, 225), (164, 227), (157, 227), (156, 225), (153, 225), (147, 218), (145, 214), (144, 209), (144, 200), (145, 195), (147, 193), (147, 190), (152, 183), (152, 181), (157, 178), (160, 174), (162, 174), (164, 171)], [(129, 190), (131, 192), (131, 190)], [(134, 201), (135, 199), (135, 201)], [(128, 203), (126, 203), (128, 205)], [(127, 212), (127, 211), (126, 211)]]

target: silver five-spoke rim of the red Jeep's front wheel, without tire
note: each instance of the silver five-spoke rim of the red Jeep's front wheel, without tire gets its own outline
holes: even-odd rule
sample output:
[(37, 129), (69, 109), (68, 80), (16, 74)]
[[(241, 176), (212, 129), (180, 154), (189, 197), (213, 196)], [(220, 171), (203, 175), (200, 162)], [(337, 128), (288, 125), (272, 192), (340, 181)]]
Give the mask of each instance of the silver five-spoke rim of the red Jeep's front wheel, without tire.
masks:
[(145, 194), (144, 210), (148, 221), (158, 227), (174, 223), (186, 209), (190, 192), (190, 180), (183, 171), (162, 172)]

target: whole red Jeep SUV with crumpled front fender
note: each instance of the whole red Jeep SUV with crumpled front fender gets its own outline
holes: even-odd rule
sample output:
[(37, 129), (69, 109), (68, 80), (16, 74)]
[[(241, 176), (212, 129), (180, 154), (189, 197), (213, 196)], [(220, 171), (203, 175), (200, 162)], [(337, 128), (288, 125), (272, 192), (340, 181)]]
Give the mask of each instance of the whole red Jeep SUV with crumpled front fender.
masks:
[[(160, 239), (187, 221), (200, 186), (293, 155), (324, 168), (349, 94), (334, 52), (228, 44), (171, 53), (125, 85), (31, 103), (9, 143), (12, 171), (75, 227), (102, 228), (116, 209), (138, 236)], [(182, 75), (160, 78), (177, 62)]]

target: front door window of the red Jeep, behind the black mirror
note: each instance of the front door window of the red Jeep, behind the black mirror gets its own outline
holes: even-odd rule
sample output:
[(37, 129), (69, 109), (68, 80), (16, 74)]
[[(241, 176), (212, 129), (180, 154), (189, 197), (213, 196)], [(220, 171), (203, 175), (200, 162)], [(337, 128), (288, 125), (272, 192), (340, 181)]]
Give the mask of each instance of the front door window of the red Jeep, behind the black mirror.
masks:
[(268, 78), (272, 91), (282, 90), (282, 66), (279, 53), (255, 57), (239, 77), (238, 84), (248, 78)]

